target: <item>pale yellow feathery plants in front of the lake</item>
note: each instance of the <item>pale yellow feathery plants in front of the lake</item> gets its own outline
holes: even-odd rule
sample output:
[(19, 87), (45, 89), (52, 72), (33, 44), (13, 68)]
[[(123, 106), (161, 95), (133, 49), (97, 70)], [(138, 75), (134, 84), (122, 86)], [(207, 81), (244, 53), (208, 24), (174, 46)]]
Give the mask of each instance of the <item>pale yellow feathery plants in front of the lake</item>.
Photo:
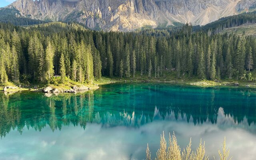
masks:
[[(229, 150), (226, 148), (226, 138), (224, 138), (222, 145), (222, 152), (218, 149), (220, 156), (219, 160), (231, 160), (231, 158), (229, 158)], [(196, 151), (192, 151), (190, 138), (188, 146), (186, 146), (186, 149), (184, 148), (181, 152), (181, 148), (178, 145), (177, 138), (174, 133), (172, 136), (169, 133), (169, 146), (167, 148), (164, 132), (161, 135), (160, 148), (156, 152), (156, 156), (155, 160), (209, 160), (209, 157), (205, 154), (205, 145), (204, 143), (202, 144), (202, 139), (200, 140)], [(146, 160), (152, 160), (148, 145), (146, 149)], [(214, 160), (216, 160), (215, 157)]]

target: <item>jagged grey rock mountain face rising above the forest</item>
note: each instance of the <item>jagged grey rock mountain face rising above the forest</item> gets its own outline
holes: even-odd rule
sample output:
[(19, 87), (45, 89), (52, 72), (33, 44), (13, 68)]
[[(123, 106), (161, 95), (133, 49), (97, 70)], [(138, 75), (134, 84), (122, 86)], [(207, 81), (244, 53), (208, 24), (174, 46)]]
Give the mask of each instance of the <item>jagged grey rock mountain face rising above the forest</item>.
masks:
[(204, 25), (246, 11), (255, 0), (17, 0), (26, 17), (76, 21), (92, 29), (130, 31), (160, 23)]

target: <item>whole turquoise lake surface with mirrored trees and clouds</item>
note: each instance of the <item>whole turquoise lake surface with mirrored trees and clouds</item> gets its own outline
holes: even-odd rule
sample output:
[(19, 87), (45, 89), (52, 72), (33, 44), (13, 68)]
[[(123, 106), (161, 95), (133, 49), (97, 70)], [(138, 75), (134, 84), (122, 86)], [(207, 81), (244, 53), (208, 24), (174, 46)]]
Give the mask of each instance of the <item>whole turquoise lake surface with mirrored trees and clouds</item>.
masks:
[[(142, 160), (160, 134), (185, 147), (200, 138), (210, 159), (224, 136), (233, 160), (256, 157), (256, 91), (170, 84), (109, 84), (46, 97), (0, 93), (0, 160)], [(166, 137), (167, 138), (167, 137)]]

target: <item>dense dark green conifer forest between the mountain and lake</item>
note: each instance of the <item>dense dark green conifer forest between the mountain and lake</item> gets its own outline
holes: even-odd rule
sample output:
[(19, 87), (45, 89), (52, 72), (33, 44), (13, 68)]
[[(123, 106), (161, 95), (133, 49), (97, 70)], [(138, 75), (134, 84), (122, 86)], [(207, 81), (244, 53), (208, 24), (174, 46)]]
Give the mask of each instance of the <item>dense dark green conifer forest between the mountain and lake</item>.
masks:
[[(180, 30), (92, 31), (75, 23), (0, 24), (0, 81), (136, 77), (253, 80), (256, 38)], [(255, 62), (255, 63), (254, 63)]]

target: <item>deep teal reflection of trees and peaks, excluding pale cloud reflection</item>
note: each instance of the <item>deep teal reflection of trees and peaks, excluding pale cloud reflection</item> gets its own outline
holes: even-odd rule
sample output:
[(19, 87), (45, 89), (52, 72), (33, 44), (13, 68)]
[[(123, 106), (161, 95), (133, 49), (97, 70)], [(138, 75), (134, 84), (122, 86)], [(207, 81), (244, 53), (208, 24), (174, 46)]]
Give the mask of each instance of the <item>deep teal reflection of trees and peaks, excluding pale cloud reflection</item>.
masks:
[[(255, 98), (250, 98), (248, 90), (234, 94), (232, 90), (202, 88), (129, 84), (116, 86), (118, 89), (111, 87), (94, 93), (51, 98), (41, 93), (1, 95), (0, 136), (14, 128), (22, 133), (25, 126), (40, 131), (48, 125), (54, 131), (70, 124), (82, 128), (86, 128), (86, 123), (98, 123), (103, 127), (140, 127), (161, 120), (256, 131), (256, 102)], [(232, 106), (234, 96), (240, 99)]]

